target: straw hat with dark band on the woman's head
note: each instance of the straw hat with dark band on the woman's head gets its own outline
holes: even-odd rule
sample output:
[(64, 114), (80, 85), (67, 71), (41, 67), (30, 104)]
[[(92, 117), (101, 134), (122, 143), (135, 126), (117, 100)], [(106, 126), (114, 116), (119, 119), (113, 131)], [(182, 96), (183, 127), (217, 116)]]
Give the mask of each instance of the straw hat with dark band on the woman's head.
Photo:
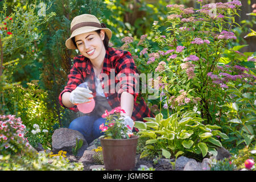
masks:
[(73, 44), (72, 38), (76, 35), (96, 30), (104, 30), (109, 39), (112, 37), (112, 31), (106, 28), (104, 23), (100, 23), (96, 16), (91, 14), (76, 16), (71, 22), (71, 36), (66, 40), (65, 45), (69, 49), (77, 49)]

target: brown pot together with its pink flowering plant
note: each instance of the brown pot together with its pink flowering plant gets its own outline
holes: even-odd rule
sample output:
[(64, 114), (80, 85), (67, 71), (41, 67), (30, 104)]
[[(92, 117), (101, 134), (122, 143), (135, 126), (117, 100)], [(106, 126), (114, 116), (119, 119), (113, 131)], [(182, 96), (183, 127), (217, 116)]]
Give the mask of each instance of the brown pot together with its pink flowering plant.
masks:
[(102, 115), (106, 118), (106, 123), (100, 125), (100, 130), (104, 135), (100, 138), (104, 165), (107, 170), (121, 169), (130, 170), (135, 167), (138, 136), (133, 135), (132, 130), (121, 107), (115, 107), (112, 111)]

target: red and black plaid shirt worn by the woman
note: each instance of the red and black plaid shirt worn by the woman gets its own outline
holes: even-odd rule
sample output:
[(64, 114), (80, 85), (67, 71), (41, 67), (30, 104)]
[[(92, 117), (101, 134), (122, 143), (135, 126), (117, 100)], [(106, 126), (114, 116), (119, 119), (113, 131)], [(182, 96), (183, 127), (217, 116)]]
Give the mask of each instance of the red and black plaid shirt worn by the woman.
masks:
[[(154, 114), (151, 113), (146, 102), (139, 96), (138, 91), (135, 89), (137, 79), (131, 75), (136, 73), (136, 66), (130, 52), (117, 50), (112, 47), (106, 50), (104, 64), (99, 78), (102, 81), (102, 89), (104, 89), (104, 94), (109, 105), (112, 109), (120, 106), (121, 93), (124, 91), (133, 94), (134, 109), (131, 118), (134, 121), (143, 121), (145, 117), (154, 117)], [(62, 94), (64, 92), (72, 92), (72, 90), (85, 81), (88, 82), (88, 87), (93, 92), (93, 97), (96, 96), (92, 63), (85, 56), (79, 55), (74, 58), (74, 64), (68, 75), (68, 79), (67, 86), (65, 86), (59, 96), (61, 106), (64, 106), (61, 99)], [(119, 85), (117, 86), (117, 84)], [(77, 106), (69, 109), (78, 111)]]

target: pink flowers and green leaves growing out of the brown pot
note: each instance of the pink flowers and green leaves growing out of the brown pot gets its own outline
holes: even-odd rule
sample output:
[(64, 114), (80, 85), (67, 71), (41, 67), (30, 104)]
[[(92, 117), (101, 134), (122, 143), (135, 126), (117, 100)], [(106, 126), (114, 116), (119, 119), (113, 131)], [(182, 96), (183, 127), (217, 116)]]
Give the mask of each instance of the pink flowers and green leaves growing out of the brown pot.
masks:
[[(115, 107), (110, 112), (105, 110), (105, 113), (102, 114), (102, 118), (106, 118), (106, 123), (102, 123), (100, 125), (101, 132), (104, 132), (104, 137), (108, 139), (124, 139), (130, 138), (127, 135), (127, 131), (129, 129), (129, 125), (125, 125), (123, 122), (123, 117), (121, 113), (125, 113), (125, 110), (121, 109), (121, 107)], [(131, 128), (130, 128), (131, 130)]]

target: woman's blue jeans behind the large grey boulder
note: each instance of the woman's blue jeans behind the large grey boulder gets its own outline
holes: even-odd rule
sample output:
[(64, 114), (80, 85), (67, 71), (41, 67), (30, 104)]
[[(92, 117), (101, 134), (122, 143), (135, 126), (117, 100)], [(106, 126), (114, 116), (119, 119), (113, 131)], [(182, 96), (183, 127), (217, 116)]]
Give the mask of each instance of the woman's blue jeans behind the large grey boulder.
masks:
[(68, 128), (79, 131), (84, 135), (86, 142), (90, 144), (94, 139), (104, 134), (101, 133), (100, 125), (105, 122), (105, 118), (85, 115), (74, 119)]

